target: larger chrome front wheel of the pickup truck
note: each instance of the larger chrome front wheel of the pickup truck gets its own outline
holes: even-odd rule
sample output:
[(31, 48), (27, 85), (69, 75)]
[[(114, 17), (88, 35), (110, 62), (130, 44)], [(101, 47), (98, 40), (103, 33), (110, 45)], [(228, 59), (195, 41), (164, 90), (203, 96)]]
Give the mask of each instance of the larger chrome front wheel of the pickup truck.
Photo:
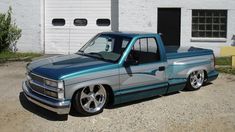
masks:
[(84, 111), (95, 113), (100, 111), (106, 103), (106, 90), (102, 85), (91, 85), (83, 88), (80, 104)]

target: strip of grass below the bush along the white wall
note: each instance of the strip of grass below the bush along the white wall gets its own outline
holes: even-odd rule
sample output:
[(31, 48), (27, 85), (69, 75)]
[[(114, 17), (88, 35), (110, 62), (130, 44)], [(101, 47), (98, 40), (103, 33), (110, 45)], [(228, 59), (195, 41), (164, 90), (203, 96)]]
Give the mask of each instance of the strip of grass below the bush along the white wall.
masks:
[(42, 56), (38, 53), (13, 53), (9, 51), (0, 52), (0, 63), (7, 61), (31, 61), (35, 57)]

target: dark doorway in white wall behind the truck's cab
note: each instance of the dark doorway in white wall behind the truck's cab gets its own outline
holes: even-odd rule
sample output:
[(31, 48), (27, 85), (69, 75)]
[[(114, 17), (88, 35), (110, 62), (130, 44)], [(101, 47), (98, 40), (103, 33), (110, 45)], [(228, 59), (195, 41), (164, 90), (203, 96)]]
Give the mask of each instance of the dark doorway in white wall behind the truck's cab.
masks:
[(158, 33), (164, 45), (180, 46), (180, 8), (158, 8)]

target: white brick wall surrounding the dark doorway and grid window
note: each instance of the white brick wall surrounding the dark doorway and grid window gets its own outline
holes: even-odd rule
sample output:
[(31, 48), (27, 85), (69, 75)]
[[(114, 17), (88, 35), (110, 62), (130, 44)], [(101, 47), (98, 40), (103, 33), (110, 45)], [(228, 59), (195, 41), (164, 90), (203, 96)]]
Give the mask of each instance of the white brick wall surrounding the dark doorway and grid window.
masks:
[[(234, 0), (119, 0), (119, 30), (157, 32), (157, 9), (181, 8), (181, 45), (210, 48), (219, 55), (221, 46), (229, 46), (235, 34)], [(192, 9), (226, 9), (228, 10), (227, 39), (192, 41)]]

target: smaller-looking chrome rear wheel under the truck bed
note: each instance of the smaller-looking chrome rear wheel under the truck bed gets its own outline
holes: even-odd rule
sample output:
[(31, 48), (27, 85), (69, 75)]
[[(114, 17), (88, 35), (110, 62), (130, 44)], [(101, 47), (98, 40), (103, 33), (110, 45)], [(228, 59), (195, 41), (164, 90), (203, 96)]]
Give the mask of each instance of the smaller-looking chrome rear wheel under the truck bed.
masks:
[(204, 82), (204, 71), (194, 71), (190, 74), (190, 84), (194, 89), (199, 89)]

